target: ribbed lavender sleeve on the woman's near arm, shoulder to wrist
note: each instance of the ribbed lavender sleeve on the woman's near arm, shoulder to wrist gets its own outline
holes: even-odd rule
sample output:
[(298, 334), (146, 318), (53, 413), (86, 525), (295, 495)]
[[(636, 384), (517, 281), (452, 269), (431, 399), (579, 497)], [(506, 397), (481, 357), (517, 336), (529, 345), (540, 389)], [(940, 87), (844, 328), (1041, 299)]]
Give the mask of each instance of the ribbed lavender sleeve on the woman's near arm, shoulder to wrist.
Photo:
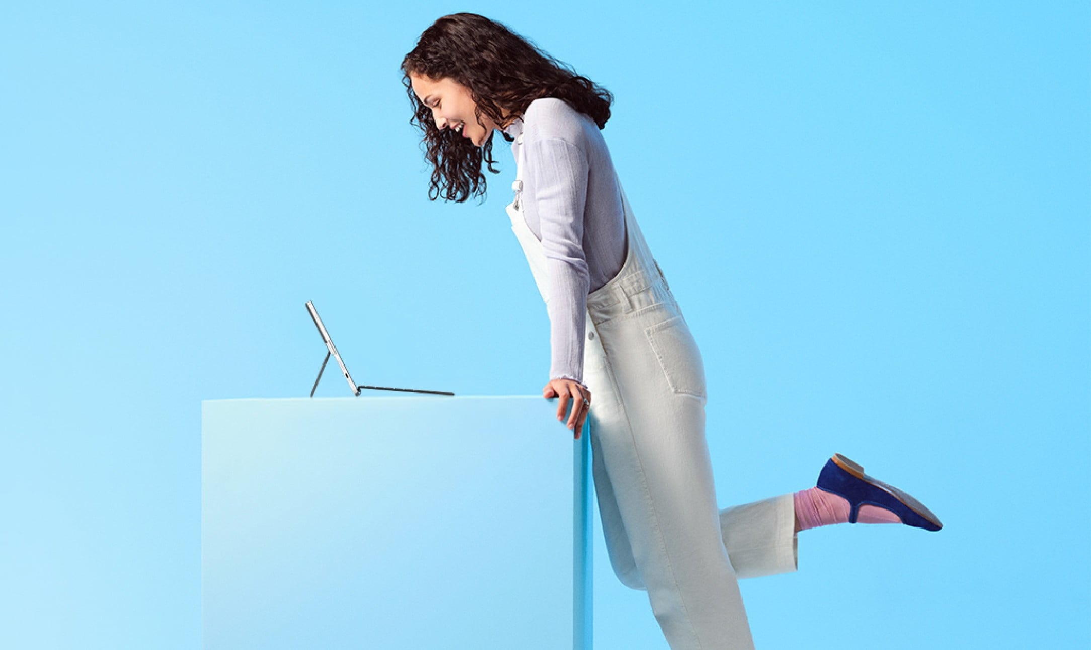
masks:
[(587, 156), (560, 137), (527, 140), (524, 156), (541, 224), (549, 278), (550, 378), (583, 383), (590, 278), (584, 256)]

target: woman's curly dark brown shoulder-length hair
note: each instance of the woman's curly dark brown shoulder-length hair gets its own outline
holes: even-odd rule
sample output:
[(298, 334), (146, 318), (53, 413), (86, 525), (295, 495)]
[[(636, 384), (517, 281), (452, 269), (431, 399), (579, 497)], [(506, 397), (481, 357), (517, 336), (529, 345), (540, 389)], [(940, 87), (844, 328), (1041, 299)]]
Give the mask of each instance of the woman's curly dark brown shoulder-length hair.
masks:
[[(539, 97), (556, 97), (595, 120), (599, 129), (610, 119), (613, 95), (567, 64), (546, 53), (532, 41), (507, 26), (476, 13), (453, 13), (424, 29), (412, 51), (401, 62), (403, 83), (413, 109), (410, 123), (423, 132), (425, 159), (432, 164), (429, 198), (441, 195), (461, 203), (471, 195), (485, 194), (485, 176), (500, 173), (492, 164), (492, 133), (480, 147), (449, 129), (436, 127), (432, 109), (413, 93), (410, 73), (433, 81), (452, 79), (466, 86), (481, 113), (506, 125), (501, 106), (509, 118), (523, 116)], [(507, 122), (511, 123), (509, 121)], [(501, 132), (505, 141), (512, 136)]]

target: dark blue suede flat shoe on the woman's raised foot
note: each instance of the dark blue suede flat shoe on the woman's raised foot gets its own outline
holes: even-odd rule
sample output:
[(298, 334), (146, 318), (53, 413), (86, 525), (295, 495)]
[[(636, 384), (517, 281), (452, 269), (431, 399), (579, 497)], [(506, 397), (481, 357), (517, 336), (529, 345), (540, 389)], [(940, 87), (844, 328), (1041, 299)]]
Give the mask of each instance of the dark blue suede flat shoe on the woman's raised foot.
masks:
[(924, 504), (894, 485), (887, 485), (878, 479), (868, 477), (864, 473), (863, 467), (840, 454), (834, 454), (834, 457), (826, 461), (826, 467), (822, 468), (822, 473), (818, 474), (818, 488), (848, 499), (852, 506), (852, 510), (849, 511), (850, 523), (856, 522), (860, 506), (871, 504), (898, 515), (902, 523), (908, 526), (924, 530), (939, 530), (944, 527), (939, 518), (924, 507)]

